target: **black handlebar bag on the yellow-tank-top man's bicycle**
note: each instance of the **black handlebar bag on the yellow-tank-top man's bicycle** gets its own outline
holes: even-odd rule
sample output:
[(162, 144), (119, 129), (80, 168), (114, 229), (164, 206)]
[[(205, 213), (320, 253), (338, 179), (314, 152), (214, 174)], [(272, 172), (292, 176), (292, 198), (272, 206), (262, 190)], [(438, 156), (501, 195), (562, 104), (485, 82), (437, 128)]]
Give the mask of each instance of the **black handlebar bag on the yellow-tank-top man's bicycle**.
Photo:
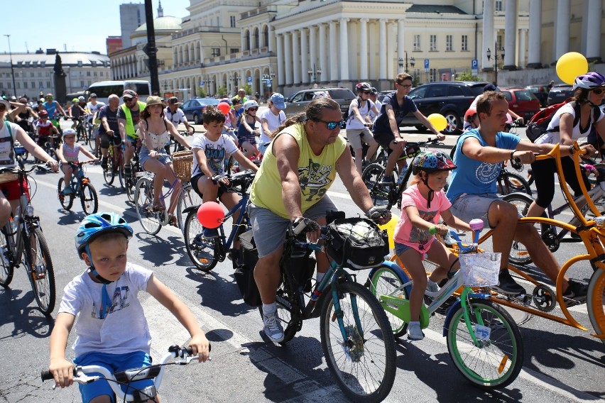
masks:
[(388, 255), (388, 235), (367, 219), (337, 219), (328, 225), (326, 252), (353, 270), (378, 267)]

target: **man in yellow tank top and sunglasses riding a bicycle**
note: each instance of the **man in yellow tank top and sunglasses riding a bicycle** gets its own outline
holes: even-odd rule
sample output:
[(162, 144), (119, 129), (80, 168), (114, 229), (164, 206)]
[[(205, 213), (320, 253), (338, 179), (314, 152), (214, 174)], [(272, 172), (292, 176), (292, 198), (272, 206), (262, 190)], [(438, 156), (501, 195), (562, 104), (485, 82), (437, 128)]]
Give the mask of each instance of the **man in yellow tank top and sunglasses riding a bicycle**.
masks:
[[(311, 242), (320, 237), (326, 211), (337, 208), (326, 192), (338, 173), (351, 199), (378, 223), (391, 212), (374, 207), (357, 172), (347, 142), (339, 136), (340, 106), (329, 98), (314, 99), (303, 114), (289, 118), (266, 150), (251, 188), (249, 216), (258, 249), (254, 278), (263, 301), (264, 331), (271, 341), (283, 341), (277, 314), (279, 261), (290, 222), (305, 221)], [(329, 265), (325, 253), (316, 253), (317, 282)]]

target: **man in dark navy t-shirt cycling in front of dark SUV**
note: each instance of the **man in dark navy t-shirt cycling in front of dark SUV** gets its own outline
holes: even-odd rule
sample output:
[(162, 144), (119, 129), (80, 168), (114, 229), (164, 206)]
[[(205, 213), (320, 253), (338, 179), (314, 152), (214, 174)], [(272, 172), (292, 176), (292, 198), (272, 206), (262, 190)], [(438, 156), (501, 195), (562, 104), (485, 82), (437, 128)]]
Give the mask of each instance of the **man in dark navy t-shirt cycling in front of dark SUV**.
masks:
[[(384, 176), (381, 184), (393, 184), (392, 172), (397, 160), (405, 149), (405, 140), (399, 134), (399, 126), (405, 115), (410, 112), (418, 118), (420, 123), (435, 133), (439, 140), (445, 139), (445, 136), (439, 133), (432, 126), (430, 121), (420, 112), (408, 94), (412, 89), (412, 76), (408, 73), (397, 74), (395, 79), (396, 91), (391, 92), (382, 100), (380, 114), (374, 122), (374, 140), (382, 145), (385, 150), (389, 150), (388, 161), (384, 170)], [(393, 152), (391, 152), (391, 150)], [(400, 167), (401, 168), (401, 167)]]

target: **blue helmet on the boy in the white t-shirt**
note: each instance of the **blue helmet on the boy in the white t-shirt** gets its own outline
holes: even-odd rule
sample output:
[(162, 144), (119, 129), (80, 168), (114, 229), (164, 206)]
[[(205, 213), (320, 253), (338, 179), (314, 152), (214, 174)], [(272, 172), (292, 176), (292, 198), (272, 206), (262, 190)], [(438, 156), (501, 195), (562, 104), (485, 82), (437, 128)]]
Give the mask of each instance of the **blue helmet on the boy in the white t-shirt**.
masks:
[(97, 213), (86, 216), (78, 226), (74, 237), (77, 255), (80, 256), (80, 259), (89, 243), (98, 236), (111, 232), (122, 233), (126, 239), (130, 239), (133, 234), (132, 227), (118, 214)]

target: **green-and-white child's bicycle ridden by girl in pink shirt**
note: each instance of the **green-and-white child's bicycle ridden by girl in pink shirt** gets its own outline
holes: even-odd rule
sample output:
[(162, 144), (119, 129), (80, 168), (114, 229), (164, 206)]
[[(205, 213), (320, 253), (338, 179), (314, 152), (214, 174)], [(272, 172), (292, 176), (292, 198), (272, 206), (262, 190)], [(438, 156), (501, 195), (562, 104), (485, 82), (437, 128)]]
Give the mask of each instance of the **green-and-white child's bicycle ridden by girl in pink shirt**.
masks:
[[(479, 232), (483, 221), (470, 223), (475, 231), (474, 243), (464, 246), (455, 231), (450, 231), (457, 240), (459, 253), (477, 251)], [(481, 255), (467, 255), (474, 259)], [(492, 254), (487, 256), (493, 260)], [(491, 270), (473, 264), (461, 267), (438, 292), (425, 291), (425, 302), (420, 310), (420, 326), (426, 328), (430, 316), (440, 311), (457, 290), (459, 297), (449, 307), (443, 336), (447, 339), (447, 350), (456, 369), (475, 386), (484, 389), (499, 389), (511, 384), (523, 367), (523, 340), (517, 324), (510, 314), (490, 299), (489, 286), (498, 283), (499, 260), (491, 263)], [(465, 269), (468, 269), (465, 270)], [(487, 280), (491, 277), (491, 280)], [(405, 333), (410, 321), (409, 297), (413, 281), (401, 267), (388, 261), (368, 277), (371, 292), (378, 297), (383, 309), (388, 312), (393, 335)], [(481, 287), (475, 292), (472, 287)]]

